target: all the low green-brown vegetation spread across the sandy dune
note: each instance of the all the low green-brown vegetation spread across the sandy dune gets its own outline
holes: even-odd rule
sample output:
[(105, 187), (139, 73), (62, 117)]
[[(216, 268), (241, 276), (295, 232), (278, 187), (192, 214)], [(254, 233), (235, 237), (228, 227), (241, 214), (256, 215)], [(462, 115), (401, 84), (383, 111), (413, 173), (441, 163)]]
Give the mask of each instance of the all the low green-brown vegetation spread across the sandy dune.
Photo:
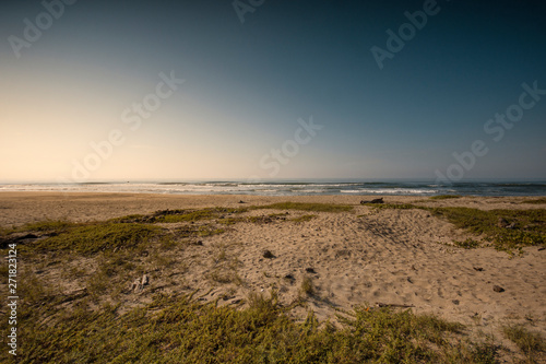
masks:
[[(426, 209), (491, 239), (527, 234), (529, 240), (518, 238), (517, 244), (544, 244), (546, 233), (544, 210), (479, 211), (396, 203), (373, 207)], [(304, 214), (241, 215), (257, 209)], [(307, 319), (298, 322), (290, 309), (308, 307), (307, 301), (320, 295), (319, 285), (316, 287), (308, 275), (298, 282), (300, 296), (289, 305), (280, 304), (276, 291), (269, 296), (251, 292), (244, 301), (232, 300), (229, 292), (247, 284), (238, 273), (240, 243), (226, 244), (215, 240), (214, 235), (237, 223), (304, 223), (316, 218), (306, 212), (352, 209), (286, 202), (247, 209), (164, 211), (85, 224), (51, 221), (4, 230), (0, 236), (4, 240), (25, 233), (40, 236), (17, 246), (25, 257), (17, 286), (23, 297), (19, 306), (19, 362), (496, 363), (497, 347), (467, 341), (462, 325), (415, 315), (410, 309), (356, 307), (339, 316), (336, 327), (319, 322), (309, 312)], [(499, 227), (499, 216), (512, 227)], [(455, 245), (474, 248), (479, 243), (467, 239)], [(188, 261), (175, 254), (183, 249), (203, 254)], [(197, 291), (185, 294), (186, 289), (162, 290), (169, 284), (186, 286), (185, 273), (197, 266), (206, 267), (203, 279), (215, 290), (227, 285), (232, 291), (218, 291), (213, 296), (216, 301), (203, 303), (202, 296), (195, 297)], [(55, 274), (44, 273), (52, 269), (70, 285), (60, 287), (58, 281), (51, 281)], [(142, 292), (133, 291), (130, 283), (135, 279), (142, 282), (144, 275), (157, 285), (149, 285), (145, 300), (135, 305)], [(171, 277), (177, 277), (177, 282), (169, 283), (175, 281)], [(7, 320), (0, 321), (0, 330), (7, 332)], [(505, 334), (530, 361), (545, 350), (543, 338), (521, 327), (506, 328)], [(7, 355), (2, 351), (0, 361), (7, 361)]]

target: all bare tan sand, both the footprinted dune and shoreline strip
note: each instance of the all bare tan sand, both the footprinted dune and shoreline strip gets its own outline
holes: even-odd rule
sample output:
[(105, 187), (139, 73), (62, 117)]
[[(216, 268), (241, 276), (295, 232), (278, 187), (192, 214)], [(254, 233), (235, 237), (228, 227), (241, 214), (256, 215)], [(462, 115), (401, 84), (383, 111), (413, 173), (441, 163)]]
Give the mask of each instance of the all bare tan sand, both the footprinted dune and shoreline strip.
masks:
[[(8, 227), (43, 220), (106, 220), (164, 209), (241, 207), (281, 201), (353, 204), (353, 212), (311, 212), (314, 219), (296, 223), (273, 219), (268, 223), (237, 223), (226, 233), (202, 238), (176, 253), (175, 263), (165, 274), (152, 274), (150, 292), (200, 289), (201, 300), (219, 294), (226, 304), (250, 292), (269, 292), (275, 286), (283, 303), (300, 294), (304, 277), (312, 280), (314, 295), (308, 309), (319, 319), (335, 321), (339, 309), (358, 305), (411, 306), (415, 313), (434, 313), (468, 326), (471, 334), (499, 333), (507, 322), (521, 322), (546, 336), (546, 250), (537, 247), (510, 257), (494, 248), (462, 249), (451, 242), (472, 235), (454, 228), (424, 210), (380, 210), (360, 206), (360, 196), (256, 197), (173, 196), (126, 193), (0, 193), (0, 226)], [(238, 203), (239, 200), (247, 202)], [(410, 202), (436, 207), (476, 209), (533, 209), (524, 198), (464, 197), (432, 201), (423, 197), (384, 197), (385, 202)], [(269, 215), (274, 210), (256, 210), (247, 215)], [(309, 212), (289, 211), (284, 219)], [(269, 249), (275, 258), (263, 258)], [(223, 250), (238, 259), (237, 274), (242, 284), (213, 283), (212, 273), (225, 272), (225, 262), (215, 256)], [(226, 261), (229, 261), (227, 259)], [(177, 270), (177, 262), (183, 269)], [(227, 268), (226, 268), (227, 269)], [(285, 277), (292, 275), (293, 279)], [(163, 278), (162, 278), (163, 277)], [(177, 284), (177, 281), (183, 282)], [(130, 284), (130, 282), (128, 282)], [(501, 286), (505, 292), (494, 291)], [(212, 290), (212, 291), (211, 291)], [(128, 302), (146, 301), (142, 293), (129, 294)], [(293, 315), (302, 318), (306, 309)]]

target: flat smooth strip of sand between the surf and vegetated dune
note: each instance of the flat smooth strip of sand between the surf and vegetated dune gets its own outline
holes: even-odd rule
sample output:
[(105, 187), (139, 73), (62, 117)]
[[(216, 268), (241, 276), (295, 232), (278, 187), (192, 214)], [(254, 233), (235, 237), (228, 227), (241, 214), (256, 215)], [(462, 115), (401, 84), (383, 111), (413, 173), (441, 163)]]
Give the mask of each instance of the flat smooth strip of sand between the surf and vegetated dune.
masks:
[[(210, 207), (240, 207), (244, 200), (251, 204), (282, 201), (348, 203), (381, 196), (246, 196), (246, 195), (154, 195), (102, 192), (0, 192), (0, 225), (21, 225), (44, 220), (67, 219), (75, 222), (102, 221), (134, 213), (151, 213), (165, 209), (200, 209)], [(385, 201), (427, 201), (420, 196), (384, 196)], [(537, 209), (541, 206), (519, 202), (532, 197), (462, 197), (456, 200), (425, 202), (434, 207), (468, 207), (491, 209)], [(423, 203), (422, 203), (423, 204)]]

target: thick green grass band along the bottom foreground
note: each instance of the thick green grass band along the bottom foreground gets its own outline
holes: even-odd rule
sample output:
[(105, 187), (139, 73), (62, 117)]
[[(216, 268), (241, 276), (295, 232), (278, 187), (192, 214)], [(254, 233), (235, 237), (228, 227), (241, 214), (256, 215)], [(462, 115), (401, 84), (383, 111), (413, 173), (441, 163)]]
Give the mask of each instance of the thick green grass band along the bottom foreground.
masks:
[(45, 325), (38, 317), (52, 307), (43, 304), (24, 313), (17, 359), (59, 364), (488, 363), (482, 347), (449, 340), (461, 325), (434, 316), (358, 307), (336, 329), (321, 327), (312, 313), (295, 322), (277, 301), (274, 292), (270, 297), (254, 293), (248, 308), (235, 309), (188, 295), (156, 295), (123, 315), (117, 305), (60, 309)]

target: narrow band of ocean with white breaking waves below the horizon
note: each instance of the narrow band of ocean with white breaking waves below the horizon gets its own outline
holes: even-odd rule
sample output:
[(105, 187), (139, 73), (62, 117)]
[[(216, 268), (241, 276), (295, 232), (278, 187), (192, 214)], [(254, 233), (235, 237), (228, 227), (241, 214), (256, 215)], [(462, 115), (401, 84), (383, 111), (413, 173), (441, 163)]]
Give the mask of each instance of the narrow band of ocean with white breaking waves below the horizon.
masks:
[(546, 181), (466, 181), (437, 185), (426, 181), (141, 181), (82, 184), (0, 184), (0, 191), (129, 192), (166, 195), (257, 196), (546, 196)]

